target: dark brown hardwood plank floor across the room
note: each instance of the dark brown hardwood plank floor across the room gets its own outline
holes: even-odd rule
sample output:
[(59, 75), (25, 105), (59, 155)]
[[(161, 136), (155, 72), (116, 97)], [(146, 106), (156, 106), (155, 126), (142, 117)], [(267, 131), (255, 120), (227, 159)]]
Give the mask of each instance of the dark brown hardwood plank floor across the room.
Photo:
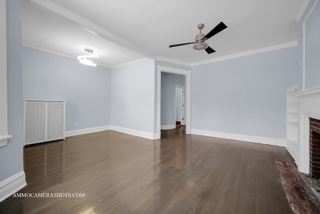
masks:
[[(21, 193), (0, 213), (293, 213), (275, 160), (283, 147), (184, 134), (149, 140), (116, 131), (24, 148)], [(54, 196), (54, 195), (53, 195)]]

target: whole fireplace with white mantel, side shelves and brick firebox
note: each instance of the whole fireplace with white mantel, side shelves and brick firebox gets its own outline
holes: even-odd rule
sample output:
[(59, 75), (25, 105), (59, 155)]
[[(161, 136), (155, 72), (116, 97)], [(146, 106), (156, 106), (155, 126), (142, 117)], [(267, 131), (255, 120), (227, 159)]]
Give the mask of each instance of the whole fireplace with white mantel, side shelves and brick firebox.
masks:
[(320, 86), (287, 89), (286, 148), (299, 172), (320, 178)]

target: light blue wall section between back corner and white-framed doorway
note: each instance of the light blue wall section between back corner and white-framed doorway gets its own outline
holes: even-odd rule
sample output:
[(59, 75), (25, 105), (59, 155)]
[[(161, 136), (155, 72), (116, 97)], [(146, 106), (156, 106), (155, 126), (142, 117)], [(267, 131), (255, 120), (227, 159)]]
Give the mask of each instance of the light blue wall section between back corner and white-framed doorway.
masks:
[(153, 133), (154, 60), (112, 68), (111, 78), (111, 124)]

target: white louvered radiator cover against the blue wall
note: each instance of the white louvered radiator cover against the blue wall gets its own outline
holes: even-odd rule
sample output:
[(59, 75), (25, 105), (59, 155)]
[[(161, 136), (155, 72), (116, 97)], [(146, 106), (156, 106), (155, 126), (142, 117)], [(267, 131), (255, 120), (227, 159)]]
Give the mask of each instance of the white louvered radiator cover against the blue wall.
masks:
[(24, 145), (65, 139), (64, 100), (23, 100)]

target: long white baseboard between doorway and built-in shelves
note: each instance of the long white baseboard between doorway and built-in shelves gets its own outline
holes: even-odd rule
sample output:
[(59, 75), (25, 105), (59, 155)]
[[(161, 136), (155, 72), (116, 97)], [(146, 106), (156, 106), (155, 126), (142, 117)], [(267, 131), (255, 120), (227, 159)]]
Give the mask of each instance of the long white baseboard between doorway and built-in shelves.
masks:
[(224, 139), (230, 139), (230, 140), (246, 141), (251, 143), (261, 143), (261, 144), (268, 144), (268, 145), (282, 146), (282, 147), (285, 147), (285, 143), (286, 143), (285, 139), (279, 139), (279, 138), (258, 137), (258, 136), (213, 132), (213, 131), (197, 130), (197, 129), (191, 129), (191, 134), (224, 138)]

